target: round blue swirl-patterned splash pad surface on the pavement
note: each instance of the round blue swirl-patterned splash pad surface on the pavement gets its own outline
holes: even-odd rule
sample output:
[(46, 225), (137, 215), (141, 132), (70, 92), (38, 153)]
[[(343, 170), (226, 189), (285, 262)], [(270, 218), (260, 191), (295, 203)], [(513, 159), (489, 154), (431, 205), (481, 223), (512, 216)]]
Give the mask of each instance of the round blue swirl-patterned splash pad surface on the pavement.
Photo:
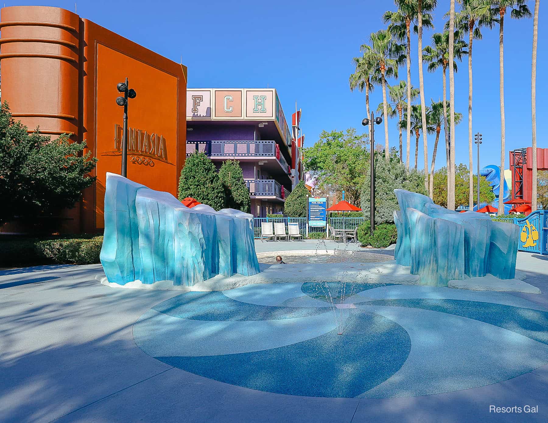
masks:
[[(450, 392), (548, 363), (548, 311), (522, 298), (349, 285), (264, 284), (226, 295), (180, 294), (144, 313), (134, 324), (134, 340), (150, 356), (205, 378), (310, 397)], [(334, 310), (332, 300), (356, 308)], [(342, 312), (343, 335), (334, 312)]]

